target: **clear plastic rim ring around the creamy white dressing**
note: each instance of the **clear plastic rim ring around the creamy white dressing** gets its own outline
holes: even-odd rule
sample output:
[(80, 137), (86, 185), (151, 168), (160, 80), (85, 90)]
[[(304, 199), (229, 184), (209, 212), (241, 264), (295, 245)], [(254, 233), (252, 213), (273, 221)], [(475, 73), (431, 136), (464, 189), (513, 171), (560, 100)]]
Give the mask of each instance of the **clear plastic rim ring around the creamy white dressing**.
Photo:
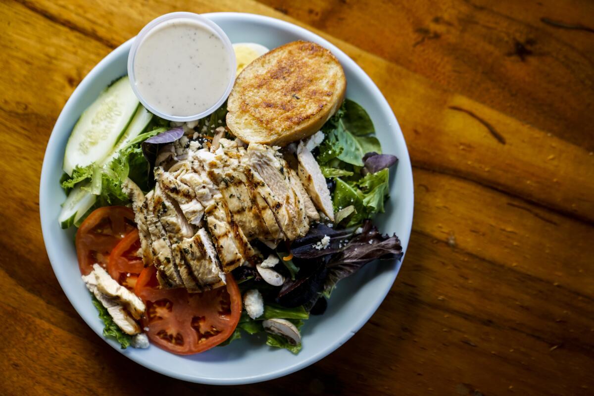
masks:
[[(222, 41), (223, 46), (225, 47), (225, 51), (227, 52), (228, 59), (229, 59), (229, 77), (228, 77), (228, 84), (225, 90), (225, 93), (217, 100), (211, 107), (204, 110), (203, 112), (188, 115), (188, 116), (175, 116), (169, 115), (167, 113), (163, 113), (155, 108), (153, 103), (144, 98), (138, 90), (135, 75), (134, 75), (134, 61), (136, 58), (136, 54), (138, 51), (138, 47), (143, 43), (143, 40), (146, 39), (147, 35), (156, 27), (160, 26), (163, 23), (169, 23), (172, 20), (192, 20), (192, 23), (197, 23), (201, 27), (206, 28), (206, 30), (210, 31), (211, 33), (215, 34), (219, 39)], [(130, 49), (128, 55), (128, 77), (130, 79), (130, 83), (132, 84), (132, 90), (138, 97), (138, 100), (143, 104), (144, 107), (147, 108), (151, 113), (161, 117), (168, 119), (169, 121), (179, 121), (179, 122), (188, 122), (194, 121), (200, 118), (204, 118), (210, 113), (213, 113), (214, 110), (218, 109), (227, 99), (231, 89), (233, 88), (233, 83), (235, 82), (235, 70), (236, 70), (236, 60), (235, 60), (235, 52), (233, 51), (233, 46), (229, 40), (229, 37), (225, 34), (225, 32), (213, 21), (208, 20), (207, 18), (194, 14), (193, 12), (171, 12), (170, 14), (161, 15), (159, 18), (156, 18), (150, 21), (143, 29), (138, 33), (134, 42), (132, 43), (132, 48)]]

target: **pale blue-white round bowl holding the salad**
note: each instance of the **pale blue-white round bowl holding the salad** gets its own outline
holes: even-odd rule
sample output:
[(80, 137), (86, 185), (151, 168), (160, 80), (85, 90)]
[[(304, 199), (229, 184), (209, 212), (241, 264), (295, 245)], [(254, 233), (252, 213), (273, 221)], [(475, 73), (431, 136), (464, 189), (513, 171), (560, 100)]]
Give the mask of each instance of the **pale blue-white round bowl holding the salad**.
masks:
[[(346, 72), (346, 96), (361, 104), (374, 122), (385, 153), (399, 158), (390, 173), (390, 200), (386, 213), (375, 222), (383, 232), (395, 232), (403, 249), (409, 241), (413, 214), (413, 181), (410, 159), (400, 126), (371, 78), (336, 46), (304, 28), (261, 15), (220, 12), (204, 14), (228, 34), (232, 42), (255, 42), (274, 48), (293, 40), (309, 40), (328, 49), (339, 59)], [(62, 158), (68, 136), (80, 114), (115, 78), (126, 74), (128, 40), (105, 57), (78, 85), (62, 109), (49, 138), (40, 183), (40, 214), (49, 260), (66, 296), (81, 318), (99, 335), (103, 325), (91, 304), (78, 271), (72, 242), (74, 230), (61, 230), (60, 204), (65, 195), (59, 186)], [(378, 308), (390, 290), (400, 262), (369, 263), (361, 271), (340, 282), (324, 315), (311, 316), (303, 330), (303, 349), (298, 355), (273, 349), (263, 338), (244, 335), (226, 347), (215, 347), (194, 356), (178, 356), (158, 347), (146, 350), (119, 349), (113, 340), (106, 342), (122, 354), (156, 372), (185, 381), (203, 384), (235, 385), (277, 378), (317, 362), (345, 343)]]

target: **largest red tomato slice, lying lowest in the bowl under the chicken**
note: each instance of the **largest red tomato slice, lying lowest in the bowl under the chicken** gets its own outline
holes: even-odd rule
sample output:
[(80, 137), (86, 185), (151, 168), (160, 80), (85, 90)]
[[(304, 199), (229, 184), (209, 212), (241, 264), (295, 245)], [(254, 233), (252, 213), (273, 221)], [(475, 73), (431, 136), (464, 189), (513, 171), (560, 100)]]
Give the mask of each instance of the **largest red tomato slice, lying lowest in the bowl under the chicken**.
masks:
[(144, 268), (134, 292), (146, 303), (143, 327), (149, 339), (176, 354), (200, 353), (225, 341), (241, 315), (241, 294), (231, 274), (226, 287), (204, 293), (158, 289), (156, 270)]

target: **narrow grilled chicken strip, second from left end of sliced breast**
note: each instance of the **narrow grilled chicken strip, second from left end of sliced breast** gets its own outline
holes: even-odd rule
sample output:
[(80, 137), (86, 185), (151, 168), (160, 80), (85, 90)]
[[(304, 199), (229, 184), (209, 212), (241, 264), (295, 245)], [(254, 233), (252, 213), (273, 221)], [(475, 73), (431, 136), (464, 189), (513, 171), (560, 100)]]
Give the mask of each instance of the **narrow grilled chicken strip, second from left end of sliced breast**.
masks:
[[(157, 192), (158, 190), (158, 192)], [(183, 287), (181, 275), (179, 275), (178, 268), (173, 262), (173, 252), (171, 250), (171, 243), (168, 234), (161, 224), (160, 211), (168, 210), (166, 205), (163, 205), (163, 199), (154, 198), (160, 195), (159, 185), (155, 186), (154, 191), (149, 192), (145, 197), (147, 204), (147, 225), (151, 239), (153, 239), (153, 262), (157, 268), (157, 279), (162, 287), (171, 289), (173, 287)], [(157, 203), (157, 205), (155, 205)]]

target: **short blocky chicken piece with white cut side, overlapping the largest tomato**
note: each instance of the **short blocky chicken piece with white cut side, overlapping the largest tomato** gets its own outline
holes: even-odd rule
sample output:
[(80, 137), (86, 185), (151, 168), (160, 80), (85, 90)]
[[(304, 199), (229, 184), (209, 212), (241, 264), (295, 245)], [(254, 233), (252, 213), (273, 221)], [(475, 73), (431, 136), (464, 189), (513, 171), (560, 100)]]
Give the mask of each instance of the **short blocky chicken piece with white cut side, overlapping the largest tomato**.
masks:
[(184, 263), (196, 283), (197, 291), (215, 289), (225, 284), (225, 273), (219, 267), (213, 243), (205, 229), (179, 244)]

